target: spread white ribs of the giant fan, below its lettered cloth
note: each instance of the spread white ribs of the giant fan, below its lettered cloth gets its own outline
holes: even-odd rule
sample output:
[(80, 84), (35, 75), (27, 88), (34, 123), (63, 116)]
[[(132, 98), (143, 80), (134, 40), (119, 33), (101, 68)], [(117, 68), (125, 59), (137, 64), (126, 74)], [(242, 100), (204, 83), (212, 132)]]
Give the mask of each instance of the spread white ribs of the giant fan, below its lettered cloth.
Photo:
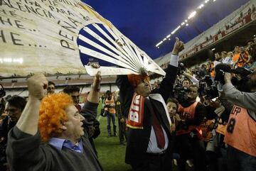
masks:
[(84, 60), (84, 56), (80, 55), (89, 75), (95, 75), (98, 70), (102, 75), (140, 75), (144, 72), (165, 75), (164, 70), (154, 60), (114, 27), (110, 28), (104, 23), (92, 23), (82, 28), (78, 39), (80, 53), (85, 57), (95, 57), (119, 66), (100, 67), (96, 70), (87, 66), (88, 60)]

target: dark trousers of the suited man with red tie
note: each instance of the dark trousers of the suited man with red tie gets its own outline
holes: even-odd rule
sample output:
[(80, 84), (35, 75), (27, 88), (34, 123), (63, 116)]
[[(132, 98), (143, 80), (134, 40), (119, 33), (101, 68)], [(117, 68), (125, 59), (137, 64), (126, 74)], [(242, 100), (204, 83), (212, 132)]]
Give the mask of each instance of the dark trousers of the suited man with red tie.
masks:
[(171, 171), (171, 156), (166, 153), (161, 155), (147, 154), (146, 160), (138, 161), (132, 165), (133, 171)]

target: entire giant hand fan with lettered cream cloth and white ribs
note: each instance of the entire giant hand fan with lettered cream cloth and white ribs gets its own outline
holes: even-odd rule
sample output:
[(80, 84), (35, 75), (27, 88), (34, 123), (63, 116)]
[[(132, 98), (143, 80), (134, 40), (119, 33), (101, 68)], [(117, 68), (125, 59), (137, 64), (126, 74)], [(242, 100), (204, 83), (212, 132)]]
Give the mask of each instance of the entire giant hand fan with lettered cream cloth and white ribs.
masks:
[[(164, 75), (142, 50), (80, 0), (8, 0), (1, 1), (0, 9), (0, 77), (82, 74), (80, 52), (119, 66), (101, 67), (102, 75), (139, 70)], [(85, 43), (79, 50), (80, 31), (87, 35), (80, 35)]]

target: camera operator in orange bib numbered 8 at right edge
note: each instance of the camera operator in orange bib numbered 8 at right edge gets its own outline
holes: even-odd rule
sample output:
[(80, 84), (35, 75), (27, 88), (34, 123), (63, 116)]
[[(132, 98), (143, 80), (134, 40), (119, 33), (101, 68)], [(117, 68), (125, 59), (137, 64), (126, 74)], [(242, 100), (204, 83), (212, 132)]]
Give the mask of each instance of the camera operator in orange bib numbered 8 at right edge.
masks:
[(245, 86), (250, 92), (240, 92), (225, 73), (223, 92), (235, 104), (230, 112), (225, 143), (228, 144), (228, 170), (256, 170), (256, 72), (247, 76)]

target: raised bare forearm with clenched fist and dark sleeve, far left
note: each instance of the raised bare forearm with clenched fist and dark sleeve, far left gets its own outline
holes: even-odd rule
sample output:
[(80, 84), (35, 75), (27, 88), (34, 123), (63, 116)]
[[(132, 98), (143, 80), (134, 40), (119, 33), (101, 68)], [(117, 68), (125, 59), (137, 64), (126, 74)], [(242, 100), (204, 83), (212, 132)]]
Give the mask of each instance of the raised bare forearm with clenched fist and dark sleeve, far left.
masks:
[(31, 170), (31, 167), (44, 170), (46, 160), (51, 160), (41, 151), (38, 133), (39, 107), (47, 84), (43, 75), (28, 79), (28, 102), (18, 123), (9, 131), (6, 155), (11, 170)]

